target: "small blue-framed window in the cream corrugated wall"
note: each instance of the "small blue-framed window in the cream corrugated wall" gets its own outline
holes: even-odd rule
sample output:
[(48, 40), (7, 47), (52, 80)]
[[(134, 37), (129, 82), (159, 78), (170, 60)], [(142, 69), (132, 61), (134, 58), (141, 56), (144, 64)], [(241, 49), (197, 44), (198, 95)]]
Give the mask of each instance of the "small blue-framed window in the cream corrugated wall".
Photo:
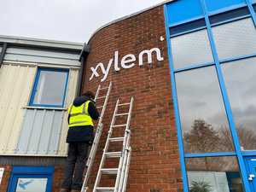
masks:
[(62, 107), (65, 99), (68, 71), (38, 69), (31, 105)]

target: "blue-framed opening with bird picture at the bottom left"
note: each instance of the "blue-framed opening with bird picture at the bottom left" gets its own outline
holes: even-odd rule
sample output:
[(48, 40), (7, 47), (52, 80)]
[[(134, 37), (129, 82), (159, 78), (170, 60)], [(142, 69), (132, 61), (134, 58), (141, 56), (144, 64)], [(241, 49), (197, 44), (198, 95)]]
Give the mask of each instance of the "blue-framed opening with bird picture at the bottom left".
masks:
[(15, 166), (9, 178), (7, 192), (51, 192), (53, 166)]

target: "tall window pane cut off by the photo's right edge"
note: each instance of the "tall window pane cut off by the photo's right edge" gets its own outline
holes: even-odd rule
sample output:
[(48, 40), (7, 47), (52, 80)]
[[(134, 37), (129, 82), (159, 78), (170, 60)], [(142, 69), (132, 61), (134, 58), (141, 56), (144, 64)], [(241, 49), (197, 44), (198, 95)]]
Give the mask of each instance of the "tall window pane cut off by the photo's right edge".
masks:
[(256, 58), (222, 65), (241, 146), (256, 149)]

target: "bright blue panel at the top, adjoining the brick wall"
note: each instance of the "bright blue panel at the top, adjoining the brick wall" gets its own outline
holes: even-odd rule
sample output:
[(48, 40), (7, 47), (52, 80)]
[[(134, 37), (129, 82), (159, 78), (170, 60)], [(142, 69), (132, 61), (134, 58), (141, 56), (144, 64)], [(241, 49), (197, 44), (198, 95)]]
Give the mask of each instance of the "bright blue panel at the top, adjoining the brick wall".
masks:
[(166, 5), (166, 16), (171, 26), (202, 15), (200, 0), (180, 0)]

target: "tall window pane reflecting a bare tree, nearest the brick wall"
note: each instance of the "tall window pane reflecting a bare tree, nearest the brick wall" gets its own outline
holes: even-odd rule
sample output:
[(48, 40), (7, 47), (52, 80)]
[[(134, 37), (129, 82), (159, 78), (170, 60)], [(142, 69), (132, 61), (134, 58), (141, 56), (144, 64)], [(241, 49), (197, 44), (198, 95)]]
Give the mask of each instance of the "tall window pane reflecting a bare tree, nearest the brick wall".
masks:
[(176, 73), (177, 100), (186, 153), (233, 151), (215, 67)]

